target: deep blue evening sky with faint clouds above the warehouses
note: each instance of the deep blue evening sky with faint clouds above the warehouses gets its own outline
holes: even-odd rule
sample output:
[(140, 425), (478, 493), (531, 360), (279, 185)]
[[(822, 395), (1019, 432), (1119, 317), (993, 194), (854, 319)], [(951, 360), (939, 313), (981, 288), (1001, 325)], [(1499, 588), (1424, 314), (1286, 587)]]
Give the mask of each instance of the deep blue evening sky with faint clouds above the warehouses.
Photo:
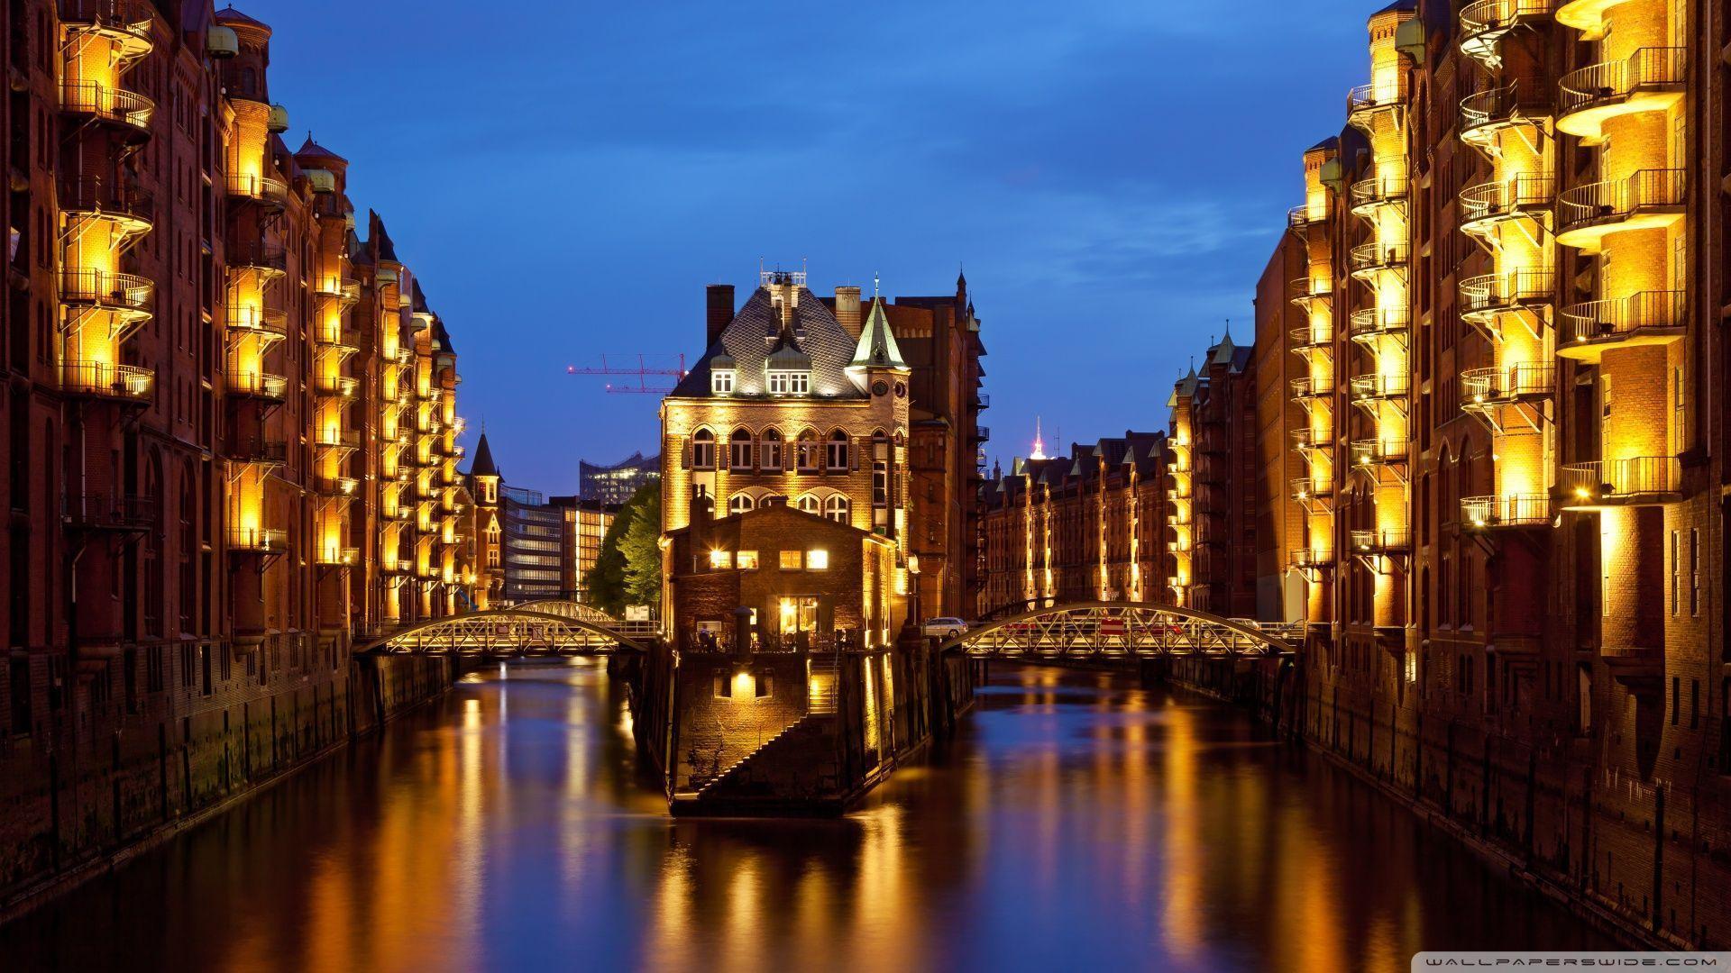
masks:
[(703, 286), (950, 293), (988, 452), (1163, 426), (1336, 133), (1378, 2), (248, 0), (272, 97), (351, 163), (460, 355), (505, 480), (656, 448), (656, 396), (568, 364), (703, 351)]

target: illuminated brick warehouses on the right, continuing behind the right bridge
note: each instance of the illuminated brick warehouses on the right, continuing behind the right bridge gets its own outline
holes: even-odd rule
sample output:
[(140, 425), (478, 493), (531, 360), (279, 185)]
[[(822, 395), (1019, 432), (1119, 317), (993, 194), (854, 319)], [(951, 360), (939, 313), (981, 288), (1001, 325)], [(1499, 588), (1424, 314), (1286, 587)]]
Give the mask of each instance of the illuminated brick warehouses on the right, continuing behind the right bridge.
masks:
[(1731, 175), (1724, 71), (1689, 66), (1726, 24), (1483, 0), (1367, 28), (1248, 365), (1210, 348), (1163, 435), (1014, 461), (978, 608), (1300, 625), (1305, 736), (1610, 921), (1722, 944)]

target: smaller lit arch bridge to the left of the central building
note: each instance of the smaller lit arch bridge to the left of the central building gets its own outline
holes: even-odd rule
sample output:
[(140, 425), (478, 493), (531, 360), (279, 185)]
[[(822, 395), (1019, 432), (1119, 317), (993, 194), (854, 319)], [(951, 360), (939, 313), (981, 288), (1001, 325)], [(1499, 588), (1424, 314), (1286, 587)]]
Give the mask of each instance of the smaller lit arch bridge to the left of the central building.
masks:
[(433, 618), (374, 639), (358, 651), (512, 656), (647, 651), (647, 646), (606, 622), (578, 618), (554, 604), (544, 608), (552, 611), (523, 606)]

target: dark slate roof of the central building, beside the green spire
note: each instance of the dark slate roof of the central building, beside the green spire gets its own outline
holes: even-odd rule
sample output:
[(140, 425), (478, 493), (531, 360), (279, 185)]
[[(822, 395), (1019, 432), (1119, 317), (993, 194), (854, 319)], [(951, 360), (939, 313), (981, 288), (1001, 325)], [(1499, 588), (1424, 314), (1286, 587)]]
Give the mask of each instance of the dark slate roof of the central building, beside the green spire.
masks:
[[(717, 355), (734, 360), (734, 398), (765, 395), (763, 364), (781, 334), (781, 315), (770, 303), (769, 287), (758, 287), (722, 329), (715, 345), (705, 350), (691, 372), (673, 388), (675, 396), (708, 398), (710, 365)], [(814, 398), (866, 398), (866, 390), (846, 374), (853, 360), (853, 339), (836, 315), (812, 291), (800, 287), (793, 312), (793, 336), (800, 351), (812, 358)]]

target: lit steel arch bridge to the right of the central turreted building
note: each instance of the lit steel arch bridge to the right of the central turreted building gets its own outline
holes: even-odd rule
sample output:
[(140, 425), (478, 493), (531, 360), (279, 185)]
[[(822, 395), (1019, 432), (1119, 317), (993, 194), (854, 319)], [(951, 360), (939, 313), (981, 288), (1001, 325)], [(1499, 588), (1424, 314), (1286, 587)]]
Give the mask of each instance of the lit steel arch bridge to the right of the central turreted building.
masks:
[(1255, 623), (1142, 601), (1078, 601), (1033, 608), (940, 646), (971, 656), (1063, 660), (1136, 656), (1277, 656), (1293, 651), (1297, 623)]

